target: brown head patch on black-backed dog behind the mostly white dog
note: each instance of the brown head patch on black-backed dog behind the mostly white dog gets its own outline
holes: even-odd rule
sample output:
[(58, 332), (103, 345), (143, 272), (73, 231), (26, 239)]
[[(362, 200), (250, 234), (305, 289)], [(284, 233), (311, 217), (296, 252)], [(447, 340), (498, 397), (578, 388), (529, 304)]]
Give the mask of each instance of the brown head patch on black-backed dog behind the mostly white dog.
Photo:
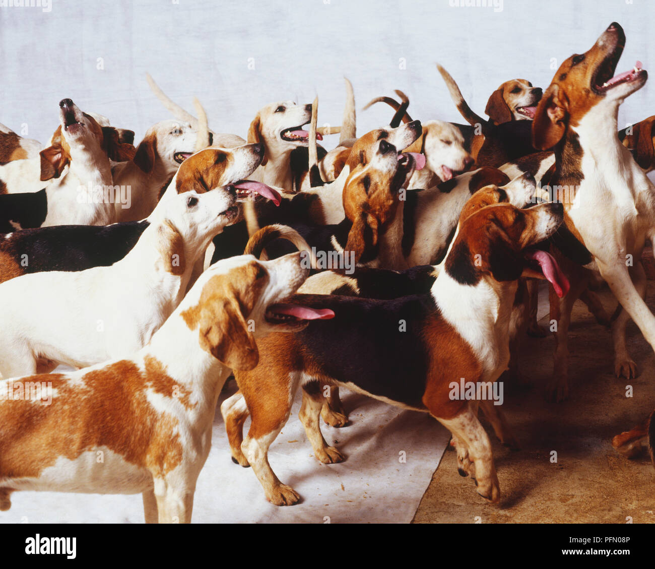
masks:
[(204, 193), (224, 186), (223, 174), (233, 161), (232, 153), (225, 150), (206, 148), (196, 152), (179, 165), (176, 191)]

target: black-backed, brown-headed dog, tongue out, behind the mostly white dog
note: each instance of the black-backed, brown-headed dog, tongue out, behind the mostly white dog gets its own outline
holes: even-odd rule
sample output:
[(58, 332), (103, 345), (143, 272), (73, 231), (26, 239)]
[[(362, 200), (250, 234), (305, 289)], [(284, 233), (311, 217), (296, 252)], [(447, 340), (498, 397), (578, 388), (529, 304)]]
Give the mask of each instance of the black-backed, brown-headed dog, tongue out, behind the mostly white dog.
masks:
[[(242, 179), (250, 176), (262, 157), (263, 151), (257, 144), (233, 149), (202, 149), (179, 167), (170, 184), (174, 193), (166, 199), (185, 191), (204, 193), (208, 189), (234, 184), (238, 186), (235, 189), (239, 202), (255, 199), (255, 196), (257, 199), (260, 196), (261, 199), (277, 199), (274, 189)], [(157, 220), (159, 208), (164, 203), (160, 201), (150, 216), (140, 222), (101, 227), (40, 227), (0, 235), (0, 283), (26, 273), (83, 271), (112, 265), (121, 260), (134, 247), (145, 228)]]

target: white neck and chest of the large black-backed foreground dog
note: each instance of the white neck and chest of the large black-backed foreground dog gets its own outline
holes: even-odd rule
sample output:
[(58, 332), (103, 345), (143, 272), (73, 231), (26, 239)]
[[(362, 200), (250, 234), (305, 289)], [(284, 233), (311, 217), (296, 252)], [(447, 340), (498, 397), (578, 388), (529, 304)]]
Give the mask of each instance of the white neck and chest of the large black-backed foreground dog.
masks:
[(498, 283), (485, 277), (476, 285), (462, 285), (442, 265), (430, 289), (443, 318), (481, 362), (482, 380), (496, 380), (510, 361), (509, 326), (517, 286), (517, 281)]

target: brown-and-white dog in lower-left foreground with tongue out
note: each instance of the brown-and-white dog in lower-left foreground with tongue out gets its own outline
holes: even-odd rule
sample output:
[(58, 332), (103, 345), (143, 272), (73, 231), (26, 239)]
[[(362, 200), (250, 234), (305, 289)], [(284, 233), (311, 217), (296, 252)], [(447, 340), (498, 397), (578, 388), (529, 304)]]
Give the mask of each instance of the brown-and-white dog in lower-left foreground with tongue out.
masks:
[[(278, 304), (308, 272), (299, 253), (225, 260), (200, 276), (129, 359), (0, 380), (0, 510), (10, 508), (16, 490), (141, 493), (146, 522), (191, 522), (231, 370), (257, 365), (256, 338), (332, 316)], [(34, 382), (50, 390), (49, 405), (29, 399)]]

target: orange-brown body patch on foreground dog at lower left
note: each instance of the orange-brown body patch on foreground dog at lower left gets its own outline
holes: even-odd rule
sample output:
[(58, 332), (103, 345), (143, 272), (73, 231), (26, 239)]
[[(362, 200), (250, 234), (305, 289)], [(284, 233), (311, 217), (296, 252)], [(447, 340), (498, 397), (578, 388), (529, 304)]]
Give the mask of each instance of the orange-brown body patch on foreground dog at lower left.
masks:
[[(128, 360), (108, 364), (84, 374), (84, 386), (73, 385), (66, 378), (47, 374), (12, 380), (51, 382), (56, 395), (50, 406), (32, 401), (1, 402), (0, 479), (39, 477), (60, 457), (75, 460), (83, 452), (103, 446), (129, 463), (146, 467), (156, 477), (181, 463), (178, 420), (155, 410), (147, 400), (147, 389), (180, 399), (187, 406), (188, 391), (165, 376), (159, 362), (151, 360), (145, 371)], [(176, 386), (181, 398), (175, 396)]]

